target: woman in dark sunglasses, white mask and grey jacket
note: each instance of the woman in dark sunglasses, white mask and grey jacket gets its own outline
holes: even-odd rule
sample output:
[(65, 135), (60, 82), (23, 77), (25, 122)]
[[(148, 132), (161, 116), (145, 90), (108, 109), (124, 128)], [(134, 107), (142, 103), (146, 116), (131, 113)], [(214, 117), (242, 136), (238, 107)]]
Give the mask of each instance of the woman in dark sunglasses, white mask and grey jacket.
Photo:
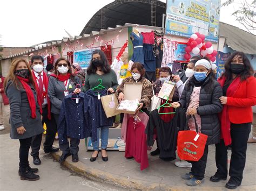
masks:
[[(57, 124), (62, 101), (65, 96), (75, 90), (77, 84), (82, 84), (82, 82), (79, 77), (72, 75), (70, 62), (65, 58), (59, 58), (55, 62), (55, 74), (50, 75), (48, 85), (48, 96), (52, 103), (51, 112), (53, 113)], [(59, 147), (60, 150), (62, 150), (62, 155), (60, 156), (59, 161), (63, 162), (72, 154), (72, 161), (77, 162), (79, 143), (79, 139), (70, 138), (70, 145), (72, 145), (72, 147), (70, 147), (69, 142), (63, 144), (62, 140), (59, 140)]]

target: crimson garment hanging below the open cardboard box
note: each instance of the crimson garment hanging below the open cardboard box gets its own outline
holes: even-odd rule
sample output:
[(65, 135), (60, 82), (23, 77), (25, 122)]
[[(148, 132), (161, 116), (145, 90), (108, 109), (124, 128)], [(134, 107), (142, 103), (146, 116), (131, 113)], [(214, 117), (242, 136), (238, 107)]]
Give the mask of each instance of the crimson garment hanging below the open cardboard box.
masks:
[(135, 161), (139, 162), (141, 171), (149, 166), (145, 125), (138, 120), (134, 121), (133, 117), (128, 120), (125, 157), (133, 157)]

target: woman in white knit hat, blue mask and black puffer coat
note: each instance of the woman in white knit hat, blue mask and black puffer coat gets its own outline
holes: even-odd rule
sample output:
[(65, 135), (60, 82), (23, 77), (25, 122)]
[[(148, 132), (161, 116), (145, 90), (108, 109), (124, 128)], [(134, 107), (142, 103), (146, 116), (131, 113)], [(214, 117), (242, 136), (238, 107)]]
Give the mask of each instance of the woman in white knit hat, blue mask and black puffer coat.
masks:
[[(191, 172), (181, 176), (187, 180), (188, 186), (204, 182), (208, 145), (220, 142), (218, 113), (222, 110), (219, 100), (222, 95), (220, 84), (214, 79), (210, 61), (201, 59), (196, 62), (194, 76), (186, 83), (180, 101), (172, 103), (174, 108), (185, 108), (190, 130), (196, 131), (196, 123), (198, 131), (208, 136), (203, 157), (191, 162)], [(190, 116), (194, 116), (196, 121)]]

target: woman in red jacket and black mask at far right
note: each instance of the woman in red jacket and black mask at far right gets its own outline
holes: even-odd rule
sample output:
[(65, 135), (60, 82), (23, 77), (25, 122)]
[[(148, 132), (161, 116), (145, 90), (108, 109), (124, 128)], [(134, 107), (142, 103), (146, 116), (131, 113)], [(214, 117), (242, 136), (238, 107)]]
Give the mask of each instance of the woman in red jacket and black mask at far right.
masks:
[(226, 188), (241, 185), (245, 167), (247, 140), (253, 120), (252, 106), (256, 104), (256, 80), (247, 56), (234, 52), (225, 63), (225, 72), (218, 80), (223, 87), (220, 97), (223, 111), (220, 114), (221, 141), (215, 145), (217, 172), (212, 182), (227, 179), (227, 146), (232, 143), (230, 180)]

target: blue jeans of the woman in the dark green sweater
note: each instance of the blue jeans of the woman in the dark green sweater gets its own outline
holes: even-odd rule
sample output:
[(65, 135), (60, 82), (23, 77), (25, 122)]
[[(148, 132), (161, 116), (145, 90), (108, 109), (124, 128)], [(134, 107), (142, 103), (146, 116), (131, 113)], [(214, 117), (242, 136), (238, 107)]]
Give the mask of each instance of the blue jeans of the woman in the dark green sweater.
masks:
[(93, 150), (99, 150), (99, 129), (100, 129), (100, 138), (102, 139), (102, 148), (106, 149), (107, 143), (109, 143), (109, 126), (101, 126), (97, 128), (97, 140), (92, 142)]

